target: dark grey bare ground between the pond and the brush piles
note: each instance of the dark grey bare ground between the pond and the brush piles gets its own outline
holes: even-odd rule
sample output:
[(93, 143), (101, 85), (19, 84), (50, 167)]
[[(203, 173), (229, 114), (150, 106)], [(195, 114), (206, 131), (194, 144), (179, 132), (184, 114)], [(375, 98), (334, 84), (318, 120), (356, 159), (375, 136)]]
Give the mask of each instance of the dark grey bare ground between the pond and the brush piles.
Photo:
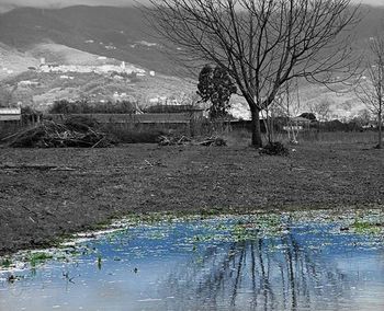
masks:
[(0, 149), (0, 254), (45, 246), (132, 211), (384, 208), (384, 150), (252, 148)]

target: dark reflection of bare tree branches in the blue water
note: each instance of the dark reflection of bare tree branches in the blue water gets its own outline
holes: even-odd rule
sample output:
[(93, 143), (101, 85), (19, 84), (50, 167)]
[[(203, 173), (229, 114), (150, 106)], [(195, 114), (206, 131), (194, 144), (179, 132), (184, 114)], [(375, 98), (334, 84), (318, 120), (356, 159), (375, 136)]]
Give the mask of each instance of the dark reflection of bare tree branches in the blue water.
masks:
[[(207, 246), (176, 268), (163, 290), (176, 293), (179, 307), (188, 310), (348, 309), (358, 276), (346, 276), (334, 255), (306, 238), (286, 231)], [(335, 242), (312, 238), (317, 246)]]

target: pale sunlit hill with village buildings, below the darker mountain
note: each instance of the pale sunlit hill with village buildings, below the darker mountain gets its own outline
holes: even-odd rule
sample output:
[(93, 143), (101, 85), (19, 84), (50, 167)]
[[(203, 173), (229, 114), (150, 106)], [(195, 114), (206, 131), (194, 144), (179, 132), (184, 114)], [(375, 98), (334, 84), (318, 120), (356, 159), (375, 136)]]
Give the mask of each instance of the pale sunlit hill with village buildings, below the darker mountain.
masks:
[[(125, 70), (142, 74), (120, 76), (114, 70), (121, 69), (121, 60), (54, 43), (36, 44), (27, 53), (1, 44), (0, 57), (0, 105), (5, 106), (21, 102), (45, 111), (54, 101), (79, 99), (138, 101), (145, 106), (150, 99), (181, 99), (195, 89), (191, 80), (158, 72), (151, 76), (129, 62), (124, 64)], [(41, 58), (59, 71), (46, 72), (49, 68), (39, 67)], [(92, 68), (99, 68), (98, 72), (89, 72)]]

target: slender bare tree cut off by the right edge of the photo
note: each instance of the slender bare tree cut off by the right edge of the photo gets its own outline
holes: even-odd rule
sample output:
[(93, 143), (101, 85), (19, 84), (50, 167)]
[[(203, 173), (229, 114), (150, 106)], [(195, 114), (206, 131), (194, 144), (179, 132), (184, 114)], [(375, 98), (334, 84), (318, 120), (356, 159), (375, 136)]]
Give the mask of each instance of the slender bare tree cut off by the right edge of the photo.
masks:
[(366, 76), (361, 77), (355, 94), (377, 118), (377, 148), (383, 145), (383, 102), (384, 102), (384, 36), (371, 37)]

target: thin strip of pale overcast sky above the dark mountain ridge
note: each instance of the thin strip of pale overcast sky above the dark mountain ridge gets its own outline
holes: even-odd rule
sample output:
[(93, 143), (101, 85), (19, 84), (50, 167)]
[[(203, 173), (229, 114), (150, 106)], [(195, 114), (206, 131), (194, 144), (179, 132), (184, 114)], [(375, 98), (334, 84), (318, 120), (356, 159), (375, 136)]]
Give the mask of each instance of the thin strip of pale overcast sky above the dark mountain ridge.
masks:
[[(13, 7), (45, 7), (45, 8), (63, 8), (76, 4), (88, 5), (129, 5), (134, 2), (147, 2), (148, 0), (0, 0), (0, 8), (9, 10)], [(384, 5), (384, 0), (352, 0), (352, 2), (361, 2), (366, 4)]]

